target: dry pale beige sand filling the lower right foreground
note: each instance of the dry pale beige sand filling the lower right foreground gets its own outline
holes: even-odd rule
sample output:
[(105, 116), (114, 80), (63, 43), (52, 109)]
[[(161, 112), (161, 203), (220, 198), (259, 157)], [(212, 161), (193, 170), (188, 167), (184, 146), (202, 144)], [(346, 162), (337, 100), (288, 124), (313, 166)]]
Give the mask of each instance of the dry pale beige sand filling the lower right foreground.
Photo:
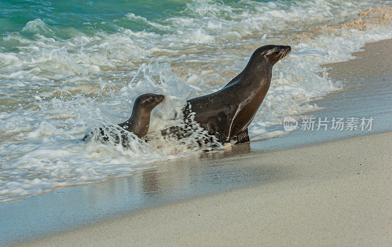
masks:
[(392, 132), (259, 153), (282, 179), (24, 246), (391, 246)]

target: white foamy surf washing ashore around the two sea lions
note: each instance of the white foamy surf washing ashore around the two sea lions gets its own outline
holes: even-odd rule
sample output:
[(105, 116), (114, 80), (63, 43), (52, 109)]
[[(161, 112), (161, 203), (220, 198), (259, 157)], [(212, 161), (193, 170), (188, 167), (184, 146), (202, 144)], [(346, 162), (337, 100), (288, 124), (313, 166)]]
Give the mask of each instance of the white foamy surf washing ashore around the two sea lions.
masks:
[[(291, 45), (274, 66), (269, 93), (249, 126), (253, 140), (279, 133), (266, 127), (284, 116), (306, 115), (308, 103), (342, 88), (321, 64), (353, 58), (365, 42), (392, 37), (392, 27), (301, 33), (341, 25), (378, 1), (175, 1), (176, 11), (154, 17), (132, 12), (111, 20), (56, 25), (45, 18), (0, 38), (0, 201), (48, 192), (56, 186), (100, 181), (193, 155), (194, 139), (159, 136), (186, 99), (214, 92), (267, 44)], [(391, 2), (382, 1), (387, 4)], [(11, 28), (11, 27), (10, 27)], [(84, 143), (85, 130), (129, 118), (143, 93), (164, 94), (170, 107), (152, 112), (151, 142), (128, 149)]]

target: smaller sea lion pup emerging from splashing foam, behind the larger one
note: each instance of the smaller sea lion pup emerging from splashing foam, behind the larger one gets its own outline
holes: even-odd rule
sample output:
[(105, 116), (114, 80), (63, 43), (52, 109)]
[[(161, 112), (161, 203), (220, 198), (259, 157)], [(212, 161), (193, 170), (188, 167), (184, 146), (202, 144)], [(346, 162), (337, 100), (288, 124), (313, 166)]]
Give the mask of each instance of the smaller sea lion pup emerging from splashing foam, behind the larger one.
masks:
[(98, 131), (90, 130), (82, 139), (82, 141), (90, 140), (95, 138), (100, 142), (107, 142), (110, 139), (115, 144), (121, 144), (124, 148), (128, 147), (129, 138), (125, 131), (132, 132), (139, 138), (143, 138), (147, 135), (148, 127), (150, 124), (150, 116), (152, 109), (160, 103), (165, 103), (164, 95), (156, 94), (142, 94), (135, 99), (133, 105), (131, 117), (123, 122), (119, 123), (118, 126), (99, 127)]

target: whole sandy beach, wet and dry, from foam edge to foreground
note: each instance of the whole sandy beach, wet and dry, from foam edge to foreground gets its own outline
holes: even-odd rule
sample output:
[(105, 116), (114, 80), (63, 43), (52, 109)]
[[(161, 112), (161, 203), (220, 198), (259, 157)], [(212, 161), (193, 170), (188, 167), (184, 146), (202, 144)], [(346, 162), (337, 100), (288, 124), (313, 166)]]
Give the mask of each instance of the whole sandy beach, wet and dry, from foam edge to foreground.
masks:
[(391, 44), (367, 44), (354, 53), (361, 58), (326, 65), (347, 84), (315, 101), (325, 108), (314, 117), (372, 116), (372, 131), (297, 130), (1, 203), (9, 219), (2, 243), (43, 237), (23, 246), (390, 246)]

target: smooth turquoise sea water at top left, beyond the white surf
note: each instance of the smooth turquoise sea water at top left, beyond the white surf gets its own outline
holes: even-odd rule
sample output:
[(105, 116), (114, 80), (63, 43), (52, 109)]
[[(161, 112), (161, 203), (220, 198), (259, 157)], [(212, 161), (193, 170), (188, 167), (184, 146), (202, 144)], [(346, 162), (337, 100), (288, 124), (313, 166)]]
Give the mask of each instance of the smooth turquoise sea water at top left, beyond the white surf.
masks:
[[(216, 2), (233, 7), (242, 5), (238, 0)], [(116, 32), (113, 25), (132, 31), (150, 31), (151, 26), (123, 21), (124, 15), (133, 13), (159, 23), (159, 19), (178, 16), (181, 12), (188, 16), (197, 15), (186, 11), (189, 4), (192, 4), (191, 0), (3, 0), (0, 2), (0, 34), (4, 36), (9, 32), (20, 31), (27, 22), (35, 19), (41, 19), (59, 30), (75, 28), (83, 33), (91, 33), (92, 29), (98, 28), (109, 33)], [(229, 15), (225, 17), (232, 18)], [(59, 31), (56, 37), (70, 38), (66, 31), (63, 34)]]

